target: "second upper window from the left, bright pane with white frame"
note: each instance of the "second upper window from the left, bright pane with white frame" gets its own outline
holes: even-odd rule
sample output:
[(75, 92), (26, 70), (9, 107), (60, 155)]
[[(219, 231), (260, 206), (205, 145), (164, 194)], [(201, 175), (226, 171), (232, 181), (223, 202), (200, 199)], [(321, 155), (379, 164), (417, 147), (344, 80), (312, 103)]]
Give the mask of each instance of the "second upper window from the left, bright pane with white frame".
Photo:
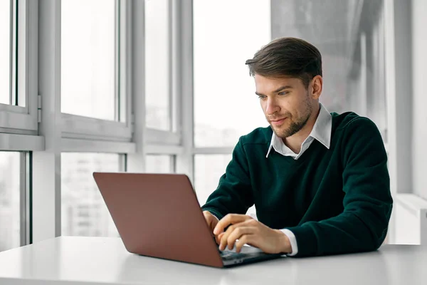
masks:
[(60, 7), (63, 138), (130, 142), (131, 2), (64, 0)]

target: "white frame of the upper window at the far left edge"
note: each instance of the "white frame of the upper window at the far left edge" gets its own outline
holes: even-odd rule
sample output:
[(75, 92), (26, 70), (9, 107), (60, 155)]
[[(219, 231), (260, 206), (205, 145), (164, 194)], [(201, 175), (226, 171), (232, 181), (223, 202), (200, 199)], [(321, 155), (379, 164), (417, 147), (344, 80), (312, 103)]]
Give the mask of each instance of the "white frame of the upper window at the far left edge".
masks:
[[(11, 97), (16, 96), (16, 81), (18, 81), (18, 98), (25, 98), (25, 107), (19, 105), (0, 104), (0, 132), (37, 135), (38, 132), (38, 1), (12, 0), (12, 19), (18, 14), (18, 27), (16, 21), (12, 26), (12, 58), (18, 53), (18, 63), (12, 61), (11, 71)], [(16, 11), (16, 8), (18, 11)], [(17, 30), (16, 30), (17, 28)], [(16, 32), (17, 31), (17, 32)], [(17, 33), (17, 38), (16, 38)], [(16, 51), (16, 42), (18, 50)], [(18, 78), (16, 78), (18, 68)], [(20, 100), (20, 99), (19, 99)], [(11, 100), (13, 102), (13, 100)]]

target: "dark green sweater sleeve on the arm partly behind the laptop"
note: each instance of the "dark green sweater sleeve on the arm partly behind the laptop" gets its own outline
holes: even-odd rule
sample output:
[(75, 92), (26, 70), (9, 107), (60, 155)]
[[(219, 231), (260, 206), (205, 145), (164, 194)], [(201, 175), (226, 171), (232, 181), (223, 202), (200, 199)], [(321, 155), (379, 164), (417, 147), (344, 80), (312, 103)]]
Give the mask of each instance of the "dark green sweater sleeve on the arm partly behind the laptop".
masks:
[(233, 150), (226, 173), (219, 179), (218, 187), (201, 208), (222, 219), (226, 214), (246, 214), (253, 205), (248, 160), (240, 138)]

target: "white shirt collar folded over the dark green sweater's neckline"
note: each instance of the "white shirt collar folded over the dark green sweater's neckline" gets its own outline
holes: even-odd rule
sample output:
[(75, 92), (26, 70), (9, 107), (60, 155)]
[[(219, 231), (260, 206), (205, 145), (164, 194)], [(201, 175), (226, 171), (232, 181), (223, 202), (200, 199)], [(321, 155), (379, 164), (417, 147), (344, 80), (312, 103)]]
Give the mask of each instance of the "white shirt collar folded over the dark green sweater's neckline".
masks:
[[(320, 103), (320, 112), (319, 115), (317, 115), (317, 119), (315, 122), (315, 125), (312, 128), (312, 131), (310, 135), (308, 135), (307, 139), (305, 139), (304, 142), (302, 142), (302, 145), (305, 144), (305, 142), (311, 143), (312, 139), (316, 139), (322, 145), (325, 145), (325, 147), (329, 150), (330, 144), (331, 144), (331, 134), (332, 134), (332, 115), (328, 112), (328, 110), (325, 108), (322, 103)], [(310, 139), (312, 138), (312, 139)], [(274, 148), (275, 151), (280, 153), (288, 153), (295, 155), (292, 150), (290, 150), (289, 147), (285, 145), (283, 140), (275, 135), (273, 132), (273, 135), (271, 137), (270, 141), (270, 147), (268, 147), (268, 152), (265, 157), (268, 157), (270, 154), (271, 148)], [(303, 147), (301, 147), (303, 149)]]

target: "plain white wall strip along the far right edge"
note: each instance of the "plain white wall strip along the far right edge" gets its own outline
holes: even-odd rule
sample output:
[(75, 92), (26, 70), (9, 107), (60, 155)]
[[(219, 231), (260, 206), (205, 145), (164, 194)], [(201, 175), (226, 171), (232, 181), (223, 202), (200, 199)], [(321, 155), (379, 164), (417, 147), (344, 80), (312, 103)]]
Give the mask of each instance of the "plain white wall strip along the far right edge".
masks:
[(412, 0), (411, 10), (413, 67), (413, 192), (427, 199), (427, 1)]

